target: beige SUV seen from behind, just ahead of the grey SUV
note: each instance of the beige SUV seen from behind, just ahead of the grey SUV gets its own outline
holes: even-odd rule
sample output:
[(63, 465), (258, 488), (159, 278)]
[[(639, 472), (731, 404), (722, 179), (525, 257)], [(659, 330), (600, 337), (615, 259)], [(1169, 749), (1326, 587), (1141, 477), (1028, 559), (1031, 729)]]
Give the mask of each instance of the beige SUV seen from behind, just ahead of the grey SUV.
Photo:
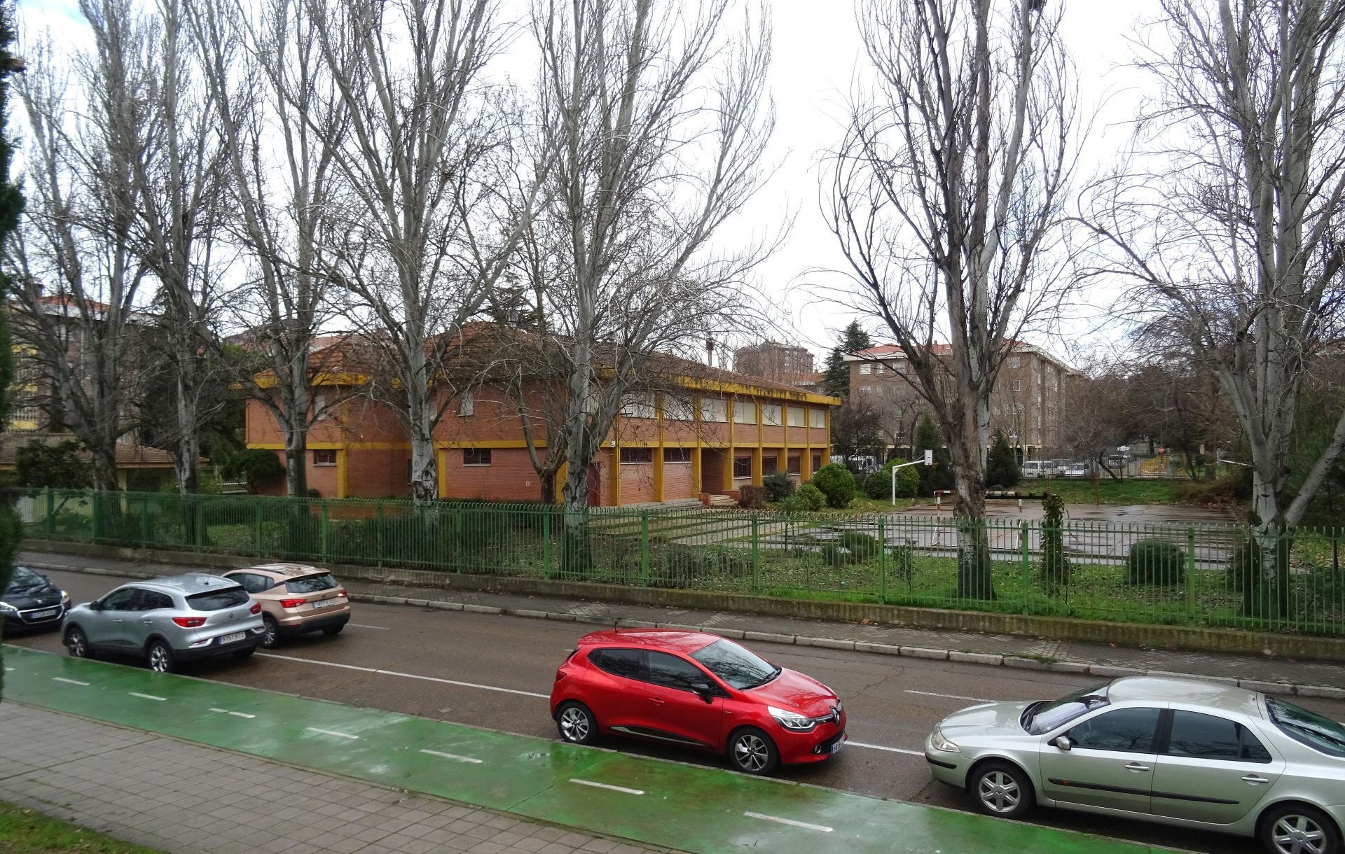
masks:
[(265, 564), (225, 573), (261, 603), (266, 633), (261, 646), (304, 632), (339, 635), (350, 621), (350, 600), (325, 569), (308, 564)]

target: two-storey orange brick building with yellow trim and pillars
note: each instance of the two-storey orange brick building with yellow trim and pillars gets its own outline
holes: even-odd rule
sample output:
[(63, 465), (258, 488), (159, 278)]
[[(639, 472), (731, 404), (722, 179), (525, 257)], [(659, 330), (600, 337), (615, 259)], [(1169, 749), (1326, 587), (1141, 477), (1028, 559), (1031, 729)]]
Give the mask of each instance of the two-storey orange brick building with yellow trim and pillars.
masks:
[[(776, 471), (807, 480), (830, 457), (837, 398), (785, 383), (667, 358), (664, 390), (632, 394), (589, 469), (594, 506), (737, 498)], [(264, 379), (264, 377), (262, 377)], [(393, 410), (358, 394), (356, 370), (315, 377), (320, 414), (308, 434), (308, 484), (327, 498), (386, 498), (410, 492), (410, 442)], [(538, 500), (541, 480), (527, 451), (516, 394), (490, 382), (438, 389), (445, 416), (434, 432), (443, 499)], [(523, 409), (541, 409), (546, 389), (531, 381)], [(529, 386), (525, 386), (529, 387)], [(534, 444), (546, 444), (545, 433)], [(249, 448), (284, 453), (270, 410), (247, 403)], [(557, 499), (566, 472), (557, 477)], [(264, 491), (280, 494), (282, 483)]]

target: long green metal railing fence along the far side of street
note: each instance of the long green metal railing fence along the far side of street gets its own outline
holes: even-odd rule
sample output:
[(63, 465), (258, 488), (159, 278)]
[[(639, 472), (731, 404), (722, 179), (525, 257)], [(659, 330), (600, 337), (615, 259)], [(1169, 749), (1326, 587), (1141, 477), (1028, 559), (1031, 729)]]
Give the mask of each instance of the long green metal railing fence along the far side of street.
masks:
[[(30, 537), (425, 573), (1345, 635), (1342, 529), (11, 491)], [(1052, 547), (1044, 549), (1052, 543)], [(1063, 555), (1046, 566), (1046, 555)]]

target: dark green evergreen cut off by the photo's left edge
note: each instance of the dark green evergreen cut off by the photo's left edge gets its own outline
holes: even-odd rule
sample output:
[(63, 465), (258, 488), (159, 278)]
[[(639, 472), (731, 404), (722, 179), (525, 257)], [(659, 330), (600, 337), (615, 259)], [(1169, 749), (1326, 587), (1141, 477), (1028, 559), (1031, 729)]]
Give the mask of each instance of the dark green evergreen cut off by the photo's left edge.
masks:
[[(9, 182), (9, 161), (13, 159), (13, 144), (4, 133), (9, 118), (9, 75), (23, 70), (23, 61), (15, 56), (9, 48), (13, 46), (13, 3), (0, 0), (0, 243), (19, 225), (19, 214), (23, 211), (23, 194)], [(4, 273), (0, 273), (0, 292), (8, 295), (11, 282)], [(9, 320), (5, 312), (0, 311), (0, 425), (9, 421), (9, 383), (13, 381), (13, 344), (9, 340)], [(9, 584), (13, 573), (13, 553), (19, 545), (20, 526), (19, 514), (15, 512), (12, 499), (0, 499), (0, 590)], [(0, 676), (0, 689), (4, 687)]]

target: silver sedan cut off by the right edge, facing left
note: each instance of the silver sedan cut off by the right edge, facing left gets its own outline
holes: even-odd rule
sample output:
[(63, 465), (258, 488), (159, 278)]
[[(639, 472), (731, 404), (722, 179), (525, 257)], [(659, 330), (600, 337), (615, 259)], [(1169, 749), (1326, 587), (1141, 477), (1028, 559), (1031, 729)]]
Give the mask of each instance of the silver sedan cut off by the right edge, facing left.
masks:
[(925, 760), (990, 815), (1041, 804), (1341, 854), (1345, 726), (1228, 685), (1131, 676), (972, 706), (939, 722)]

